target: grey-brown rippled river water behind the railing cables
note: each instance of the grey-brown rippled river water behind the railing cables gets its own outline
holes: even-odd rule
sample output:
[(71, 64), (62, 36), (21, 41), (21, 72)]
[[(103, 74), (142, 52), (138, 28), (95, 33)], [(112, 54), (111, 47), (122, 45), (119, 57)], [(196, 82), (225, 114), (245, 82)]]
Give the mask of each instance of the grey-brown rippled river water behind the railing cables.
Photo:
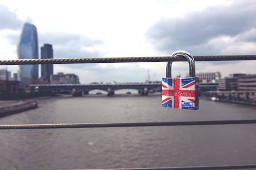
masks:
[[(256, 107), (200, 99), (197, 111), (161, 95), (58, 96), (0, 124), (256, 119)], [(256, 163), (256, 125), (0, 130), (0, 169), (82, 169)]]

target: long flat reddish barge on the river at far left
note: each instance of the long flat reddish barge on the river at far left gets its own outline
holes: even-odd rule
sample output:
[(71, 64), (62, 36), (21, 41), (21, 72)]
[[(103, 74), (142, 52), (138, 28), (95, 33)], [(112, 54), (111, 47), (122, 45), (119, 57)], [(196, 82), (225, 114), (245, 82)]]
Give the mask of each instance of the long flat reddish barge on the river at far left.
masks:
[(13, 105), (8, 107), (2, 107), (0, 108), (0, 117), (13, 114), (13, 113), (23, 112), (30, 109), (35, 109), (35, 108), (37, 108), (36, 101), (26, 102), (23, 104), (18, 104), (18, 105)]

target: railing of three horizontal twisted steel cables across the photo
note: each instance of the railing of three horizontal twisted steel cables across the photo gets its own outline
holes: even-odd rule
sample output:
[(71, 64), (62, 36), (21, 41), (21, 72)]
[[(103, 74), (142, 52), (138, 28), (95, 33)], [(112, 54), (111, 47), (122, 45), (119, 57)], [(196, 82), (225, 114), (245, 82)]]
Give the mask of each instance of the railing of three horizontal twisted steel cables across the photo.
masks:
[[(195, 61), (233, 61), (256, 60), (256, 55), (232, 56), (194, 56)], [(125, 58), (70, 58), (70, 59), (23, 59), (0, 60), (0, 65), (26, 65), (26, 64), (69, 64), (69, 63), (121, 63), (121, 62), (164, 62), (186, 61), (181, 57), (153, 56), (153, 57), (125, 57)], [(230, 125), (230, 124), (256, 124), (256, 119), (245, 120), (214, 120), (191, 122), (149, 122), (149, 123), (93, 123), (93, 124), (29, 124), (29, 125), (0, 125), (0, 130), (6, 129), (52, 129), (52, 128), (108, 128), (108, 127), (147, 127), (147, 126), (200, 126), (200, 125)], [(255, 164), (246, 165), (221, 165), (221, 166), (188, 166), (188, 167), (145, 167), (104, 170), (178, 170), (178, 169), (249, 169), (256, 168)]]

